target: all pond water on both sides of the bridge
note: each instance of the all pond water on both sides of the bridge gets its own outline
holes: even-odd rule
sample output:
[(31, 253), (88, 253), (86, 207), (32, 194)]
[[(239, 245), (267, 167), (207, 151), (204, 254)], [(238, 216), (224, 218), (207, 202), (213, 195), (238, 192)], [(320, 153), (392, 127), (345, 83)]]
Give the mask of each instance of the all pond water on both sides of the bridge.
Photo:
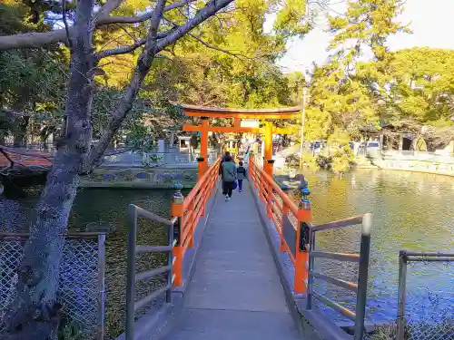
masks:
[[(384, 170), (356, 170), (343, 177), (319, 171), (306, 174), (311, 189), (314, 223), (329, 222), (366, 212), (373, 214), (368, 287), (368, 318), (390, 320), (396, 316), (398, 256), (400, 249), (426, 252), (454, 252), (454, 179), (444, 176)], [(104, 221), (114, 228), (107, 238), (107, 326), (110, 335), (123, 328), (126, 267), (126, 208), (134, 203), (169, 217), (172, 190), (82, 189), (77, 195), (70, 219), (72, 228)], [(300, 199), (293, 192), (295, 200)], [(26, 199), (1, 199), (0, 226), (24, 228), (36, 195)], [(25, 227), (26, 228), (26, 227)], [(138, 243), (162, 245), (165, 230), (141, 221)], [(317, 234), (317, 246), (330, 251), (353, 252), (359, 249), (360, 228), (343, 228)], [(164, 257), (141, 256), (138, 270), (160, 266)], [(332, 277), (356, 279), (356, 265), (318, 261), (318, 271)], [(145, 294), (162, 281), (138, 287)], [(321, 285), (328, 295), (347, 306), (353, 296), (332, 286)], [(409, 267), (408, 308), (419, 315), (451, 313), (454, 306), (454, 266), (443, 263), (416, 263)], [(354, 308), (353, 308), (354, 309)], [(331, 316), (341, 317), (332, 311)]]

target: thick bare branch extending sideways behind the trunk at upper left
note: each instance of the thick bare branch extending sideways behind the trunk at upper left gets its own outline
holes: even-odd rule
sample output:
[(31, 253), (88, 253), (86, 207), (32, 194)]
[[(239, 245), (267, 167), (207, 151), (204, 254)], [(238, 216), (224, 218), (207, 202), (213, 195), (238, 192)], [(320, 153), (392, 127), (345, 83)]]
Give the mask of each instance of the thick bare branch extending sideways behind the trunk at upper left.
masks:
[[(115, 4), (120, 5), (123, 0), (113, 0), (112, 5), (107, 9), (112, 8)], [(164, 12), (172, 11), (175, 8), (187, 5), (192, 0), (183, 1), (180, 3), (174, 3), (164, 7)], [(225, 1), (225, 0), (224, 0)], [(107, 6), (108, 2), (105, 6)], [(117, 6), (118, 6), (117, 5)], [(116, 7), (112, 8), (111, 12)], [(104, 9), (102, 10), (102, 12)], [(105, 13), (108, 11), (106, 10)], [(109, 12), (110, 13), (110, 12)], [(143, 21), (149, 20), (153, 15), (153, 11), (147, 12), (143, 15), (138, 16), (101, 16), (98, 15), (98, 19), (95, 23), (96, 27), (103, 26), (105, 24), (138, 24)], [(74, 27), (68, 27), (69, 34), (74, 30)], [(0, 36), (0, 51), (11, 50), (15, 48), (37, 48), (47, 44), (63, 43), (66, 39), (66, 30), (59, 29), (50, 32), (39, 32), (39, 33), (26, 33), (26, 34), (12, 34)]]

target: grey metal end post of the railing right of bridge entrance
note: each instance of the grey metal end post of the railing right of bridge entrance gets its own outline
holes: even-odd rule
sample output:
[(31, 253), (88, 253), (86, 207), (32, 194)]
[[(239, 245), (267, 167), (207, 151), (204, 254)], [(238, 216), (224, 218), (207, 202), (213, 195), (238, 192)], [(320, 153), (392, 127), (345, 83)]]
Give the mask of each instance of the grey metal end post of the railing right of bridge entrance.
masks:
[(366, 316), (366, 299), (369, 274), (370, 256), (370, 228), (372, 216), (365, 214), (362, 217), (361, 243), (360, 243), (360, 273), (358, 277), (358, 293), (356, 297), (356, 318), (354, 340), (361, 340), (364, 334), (364, 316)]

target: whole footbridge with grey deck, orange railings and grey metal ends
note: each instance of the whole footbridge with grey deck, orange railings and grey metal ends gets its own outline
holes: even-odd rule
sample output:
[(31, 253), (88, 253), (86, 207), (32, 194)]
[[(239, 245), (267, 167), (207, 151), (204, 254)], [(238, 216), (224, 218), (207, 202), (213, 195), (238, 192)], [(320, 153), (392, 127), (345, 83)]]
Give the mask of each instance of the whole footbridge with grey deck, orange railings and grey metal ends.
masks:
[[(297, 208), (253, 158), (245, 190), (224, 201), (217, 185), (219, 166), (217, 160), (186, 198), (175, 193), (172, 220), (130, 206), (126, 332), (119, 339), (361, 339), (370, 215), (313, 226), (309, 199)], [(167, 225), (169, 244), (136, 245), (138, 218)], [(357, 224), (362, 224), (360, 254), (315, 249), (316, 231)], [(169, 254), (167, 265), (136, 273), (136, 254), (156, 251)], [(316, 272), (314, 257), (358, 263), (358, 282)], [(167, 285), (135, 301), (135, 284), (163, 273)], [(314, 278), (355, 292), (356, 312), (314, 292)], [(165, 303), (159, 305), (163, 294)], [(312, 298), (350, 318), (351, 331), (323, 315)], [(153, 308), (136, 318), (147, 306)]]

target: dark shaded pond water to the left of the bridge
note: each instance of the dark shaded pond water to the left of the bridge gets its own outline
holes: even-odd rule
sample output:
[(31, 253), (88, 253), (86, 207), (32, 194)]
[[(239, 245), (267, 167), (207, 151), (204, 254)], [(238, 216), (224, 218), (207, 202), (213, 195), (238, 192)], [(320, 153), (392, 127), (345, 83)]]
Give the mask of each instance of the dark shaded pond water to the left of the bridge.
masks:
[[(39, 191), (29, 190), (24, 199), (2, 199), (0, 196), (0, 230), (26, 229), (26, 220), (32, 213)], [(70, 228), (85, 228), (97, 224), (112, 228), (106, 238), (106, 333), (112, 338), (123, 333), (126, 291), (126, 238), (128, 221), (126, 210), (130, 203), (149, 209), (169, 218), (173, 190), (166, 189), (80, 189), (74, 201), (70, 217)], [(184, 194), (184, 192), (183, 192)], [(137, 244), (165, 245), (166, 230), (162, 225), (139, 219)], [(161, 267), (166, 257), (161, 253), (139, 254), (137, 271)], [(162, 286), (165, 277), (144, 280), (136, 285), (136, 296), (140, 299)]]

